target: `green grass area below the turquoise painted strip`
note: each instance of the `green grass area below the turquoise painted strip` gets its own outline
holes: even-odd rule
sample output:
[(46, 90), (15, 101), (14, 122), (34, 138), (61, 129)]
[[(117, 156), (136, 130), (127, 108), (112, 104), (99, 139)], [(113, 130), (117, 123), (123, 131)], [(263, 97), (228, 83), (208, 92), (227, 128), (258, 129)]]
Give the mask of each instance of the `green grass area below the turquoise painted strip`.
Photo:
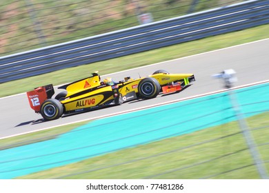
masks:
[[(269, 169), (269, 148), (268, 144), (266, 145), (269, 135), (268, 116), (267, 112), (247, 119), (261, 158), (266, 161), (267, 169)], [(19, 179), (57, 178), (259, 179), (260, 177), (238, 123), (230, 122), (21, 176)]]

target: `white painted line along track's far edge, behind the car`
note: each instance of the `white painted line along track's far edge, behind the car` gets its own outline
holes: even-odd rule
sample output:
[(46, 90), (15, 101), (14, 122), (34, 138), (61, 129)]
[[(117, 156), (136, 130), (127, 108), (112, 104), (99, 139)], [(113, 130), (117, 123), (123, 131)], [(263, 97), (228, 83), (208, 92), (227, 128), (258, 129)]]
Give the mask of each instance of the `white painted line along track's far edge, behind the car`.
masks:
[[(137, 67), (137, 68), (131, 68), (131, 69), (123, 70), (123, 71), (120, 71), (120, 72), (113, 72), (113, 73), (110, 73), (110, 74), (104, 74), (101, 77), (103, 77), (103, 76), (110, 76), (112, 74), (118, 74), (118, 73), (121, 73), (121, 72), (128, 72), (130, 70), (137, 70), (137, 69), (145, 68), (145, 67), (152, 66), (152, 65), (159, 65), (161, 63), (166, 63), (166, 62), (170, 62), (170, 61), (177, 61), (177, 60), (181, 60), (181, 59), (187, 59), (187, 58), (190, 58), (190, 57), (197, 57), (197, 56), (202, 55), (202, 54), (209, 54), (209, 53), (213, 53), (213, 52), (219, 52), (221, 50), (228, 50), (228, 49), (231, 49), (231, 48), (237, 48), (239, 46), (248, 45), (248, 44), (252, 44), (252, 43), (257, 43), (257, 42), (260, 42), (260, 41), (268, 41), (268, 40), (269, 40), (269, 38), (267, 38), (267, 39), (260, 39), (260, 40), (257, 40), (257, 41), (252, 41), (252, 42), (243, 43), (243, 44), (239, 44), (239, 45), (233, 45), (233, 46), (230, 46), (230, 47), (227, 47), (227, 48), (221, 48), (221, 49), (218, 49), (218, 50), (212, 50), (212, 51), (209, 51), (209, 52), (203, 52), (203, 53), (199, 53), (199, 54), (194, 54), (194, 55), (190, 55), (188, 57), (181, 57), (181, 58), (172, 59), (172, 60), (169, 60), (169, 61), (161, 61), (159, 63), (152, 63), (150, 65), (143, 65), (143, 66), (140, 66), (140, 67)], [(65, 83), (65, 84), (67, 84), (67, 83)], [(62, 85), (65, 85), (65, 84), (62, 84)], [(54, 88), (57, 88), (59, 86), (61, 86), (61, 85), (54, 85)], [(23, 93), (20, 93), (20, 94), (14, 94), (14, 95), (10, 95), (10, 96), (4, 96), (4, 97), (1, 97), (0, 100), (1, 99), (7, 99), (7, 98), (10, 98), (10, 97), (13, 97), (13, 96), (19, 96), (21, 94), (26, 94), (26, 92), (23, 92)]]

